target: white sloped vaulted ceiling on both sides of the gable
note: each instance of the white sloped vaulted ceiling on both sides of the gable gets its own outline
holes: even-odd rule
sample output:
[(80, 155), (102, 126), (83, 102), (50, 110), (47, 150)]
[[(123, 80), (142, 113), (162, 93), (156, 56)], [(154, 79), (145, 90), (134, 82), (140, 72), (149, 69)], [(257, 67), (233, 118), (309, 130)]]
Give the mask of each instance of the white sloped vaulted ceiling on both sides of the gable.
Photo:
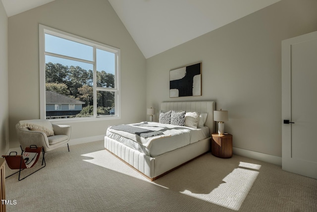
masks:
[[(53, 0), (2, 0), (8, 16)], [(108, 0), (150, 58), (280, 0)], [(91, 1), (93, 3), (93, 1)]]

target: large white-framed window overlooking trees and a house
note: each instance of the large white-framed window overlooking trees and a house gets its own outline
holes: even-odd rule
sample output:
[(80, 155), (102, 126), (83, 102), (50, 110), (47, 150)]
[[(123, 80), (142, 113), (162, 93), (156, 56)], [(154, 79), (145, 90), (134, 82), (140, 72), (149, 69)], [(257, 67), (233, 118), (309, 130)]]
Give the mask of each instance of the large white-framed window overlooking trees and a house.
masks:
[(44, 25), (39, 31), (41, 119), (119, 118), (120, 50)]

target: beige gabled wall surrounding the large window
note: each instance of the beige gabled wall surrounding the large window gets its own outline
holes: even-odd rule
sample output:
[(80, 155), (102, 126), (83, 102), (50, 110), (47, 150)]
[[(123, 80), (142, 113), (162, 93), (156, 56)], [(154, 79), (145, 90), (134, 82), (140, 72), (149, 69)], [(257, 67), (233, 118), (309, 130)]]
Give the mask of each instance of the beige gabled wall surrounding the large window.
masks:
[(40, 118), (39, 24), (121, 50), (121, 120), (71, 123), (71, 139), (106, 134), (109, 125), (146, 119), (146, 60), (107, 0), (55, 0), (8, 18), (10, 148), (14, 126)]

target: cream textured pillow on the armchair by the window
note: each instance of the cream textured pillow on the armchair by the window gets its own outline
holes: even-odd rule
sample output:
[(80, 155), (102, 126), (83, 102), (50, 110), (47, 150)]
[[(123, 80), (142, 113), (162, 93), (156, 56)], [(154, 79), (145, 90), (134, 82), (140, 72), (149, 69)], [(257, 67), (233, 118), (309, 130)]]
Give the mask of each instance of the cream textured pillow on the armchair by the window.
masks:
[(28, 128), (31, 131), (40, 131), (45, 133), (47, 136), (54, 135), (53, 125), (46, 119), (24, 120), (19, 123), (19, 128)]

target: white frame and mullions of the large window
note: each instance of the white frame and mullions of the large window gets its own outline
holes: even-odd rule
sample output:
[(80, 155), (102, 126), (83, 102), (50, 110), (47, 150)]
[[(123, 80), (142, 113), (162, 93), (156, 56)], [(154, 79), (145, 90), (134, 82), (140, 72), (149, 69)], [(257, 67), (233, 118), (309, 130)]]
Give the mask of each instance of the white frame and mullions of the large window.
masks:
[[(56, 123), (72, 123), (72, 122), (86, 122), (86, 121), (98, 121), (101, 119), (111, 120), (121, 118), (121, 100), (120, 100), (120, 49), (102, 44), (96, 41), (92, 41), (77, 35), (73, 35), (67, 32), (63, 32), (42, 24), (39, 24), (39, 60), (40, 60), (40, 117), (46, 119), (46, 87), (45, 87), (45, 34), (51, 34), (53, 36), (61, 37), (78, 43), (82, 43), (94, 48), (94, 80), (97, 79), (97, 66), (96, 66), (96, 48), (105, 50), (115, 54), (115, 87), (97, 87), (97, 83), (93, 84), (94, 89), (94, 117), (85, 118), (66, 118), (66, 119), (54, 119), (50, 121)], [(85, 61), (86, 62), (86, 61)], [(110, 91), (114, 92), (114, 115), (97, 116), (97, 91)]]

